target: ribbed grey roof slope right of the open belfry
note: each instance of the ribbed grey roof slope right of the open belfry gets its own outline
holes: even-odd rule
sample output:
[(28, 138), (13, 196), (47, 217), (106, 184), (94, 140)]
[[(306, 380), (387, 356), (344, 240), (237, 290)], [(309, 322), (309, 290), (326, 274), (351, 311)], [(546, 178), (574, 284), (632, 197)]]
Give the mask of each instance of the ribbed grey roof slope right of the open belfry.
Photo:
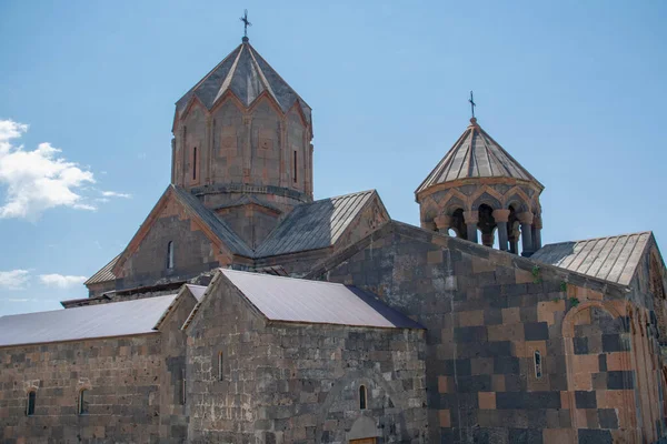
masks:
[(650, 232), (641, 232), (551, 243), (539, 249), (530, 259), (591, 278), (628, 285), (650, 235)]

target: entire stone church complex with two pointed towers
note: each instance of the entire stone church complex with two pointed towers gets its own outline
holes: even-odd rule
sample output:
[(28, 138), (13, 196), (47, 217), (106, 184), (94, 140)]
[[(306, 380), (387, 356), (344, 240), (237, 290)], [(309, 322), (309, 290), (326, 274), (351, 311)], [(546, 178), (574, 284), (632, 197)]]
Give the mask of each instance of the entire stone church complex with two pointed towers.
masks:
[(247, 38), (172, 132), (171, 183), (89, 297), (0, 317), (3, 443), (667, 434), (653, 233), (542, 245), (544, 185), (476, 119), (417, 186), (421, 226), (374, 190), (313, 200), (311, 109)]

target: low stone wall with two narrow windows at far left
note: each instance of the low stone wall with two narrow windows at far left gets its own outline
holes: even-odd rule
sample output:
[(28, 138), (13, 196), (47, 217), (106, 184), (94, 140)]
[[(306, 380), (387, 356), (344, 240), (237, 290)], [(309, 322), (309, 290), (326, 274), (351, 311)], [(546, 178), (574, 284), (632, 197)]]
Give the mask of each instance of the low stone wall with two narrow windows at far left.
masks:
[[(159, 334), (1, 349), (2, 442), (157, 443), (160, 353)], [(89, 413), (78, 415), (82, 389)]]

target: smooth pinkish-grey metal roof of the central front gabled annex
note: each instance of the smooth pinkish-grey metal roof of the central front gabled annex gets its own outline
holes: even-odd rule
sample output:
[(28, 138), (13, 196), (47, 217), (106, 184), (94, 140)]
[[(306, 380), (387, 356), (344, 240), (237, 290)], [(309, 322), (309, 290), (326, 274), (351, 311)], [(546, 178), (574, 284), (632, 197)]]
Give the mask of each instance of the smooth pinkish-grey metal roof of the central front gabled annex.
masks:
[(221, 272), (271, 321), (422, 329), (354, 286), (235, 270)]

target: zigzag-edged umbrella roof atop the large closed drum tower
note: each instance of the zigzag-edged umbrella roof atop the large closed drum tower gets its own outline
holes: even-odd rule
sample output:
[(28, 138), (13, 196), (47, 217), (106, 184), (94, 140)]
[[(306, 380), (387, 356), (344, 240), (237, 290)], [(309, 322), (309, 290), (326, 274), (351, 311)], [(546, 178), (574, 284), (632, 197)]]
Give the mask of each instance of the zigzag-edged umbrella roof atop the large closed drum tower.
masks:
[(188, 91), (176, 103), (177, 111), (181, 112), (193, 95), (210, 110), (227, 91), (231, 91), (246, 107), (265, 91), (278, 102), (283, 112), (298, 102), (306, 120), (310, 122), (310, 107), (248, 42), (238, 46)]

